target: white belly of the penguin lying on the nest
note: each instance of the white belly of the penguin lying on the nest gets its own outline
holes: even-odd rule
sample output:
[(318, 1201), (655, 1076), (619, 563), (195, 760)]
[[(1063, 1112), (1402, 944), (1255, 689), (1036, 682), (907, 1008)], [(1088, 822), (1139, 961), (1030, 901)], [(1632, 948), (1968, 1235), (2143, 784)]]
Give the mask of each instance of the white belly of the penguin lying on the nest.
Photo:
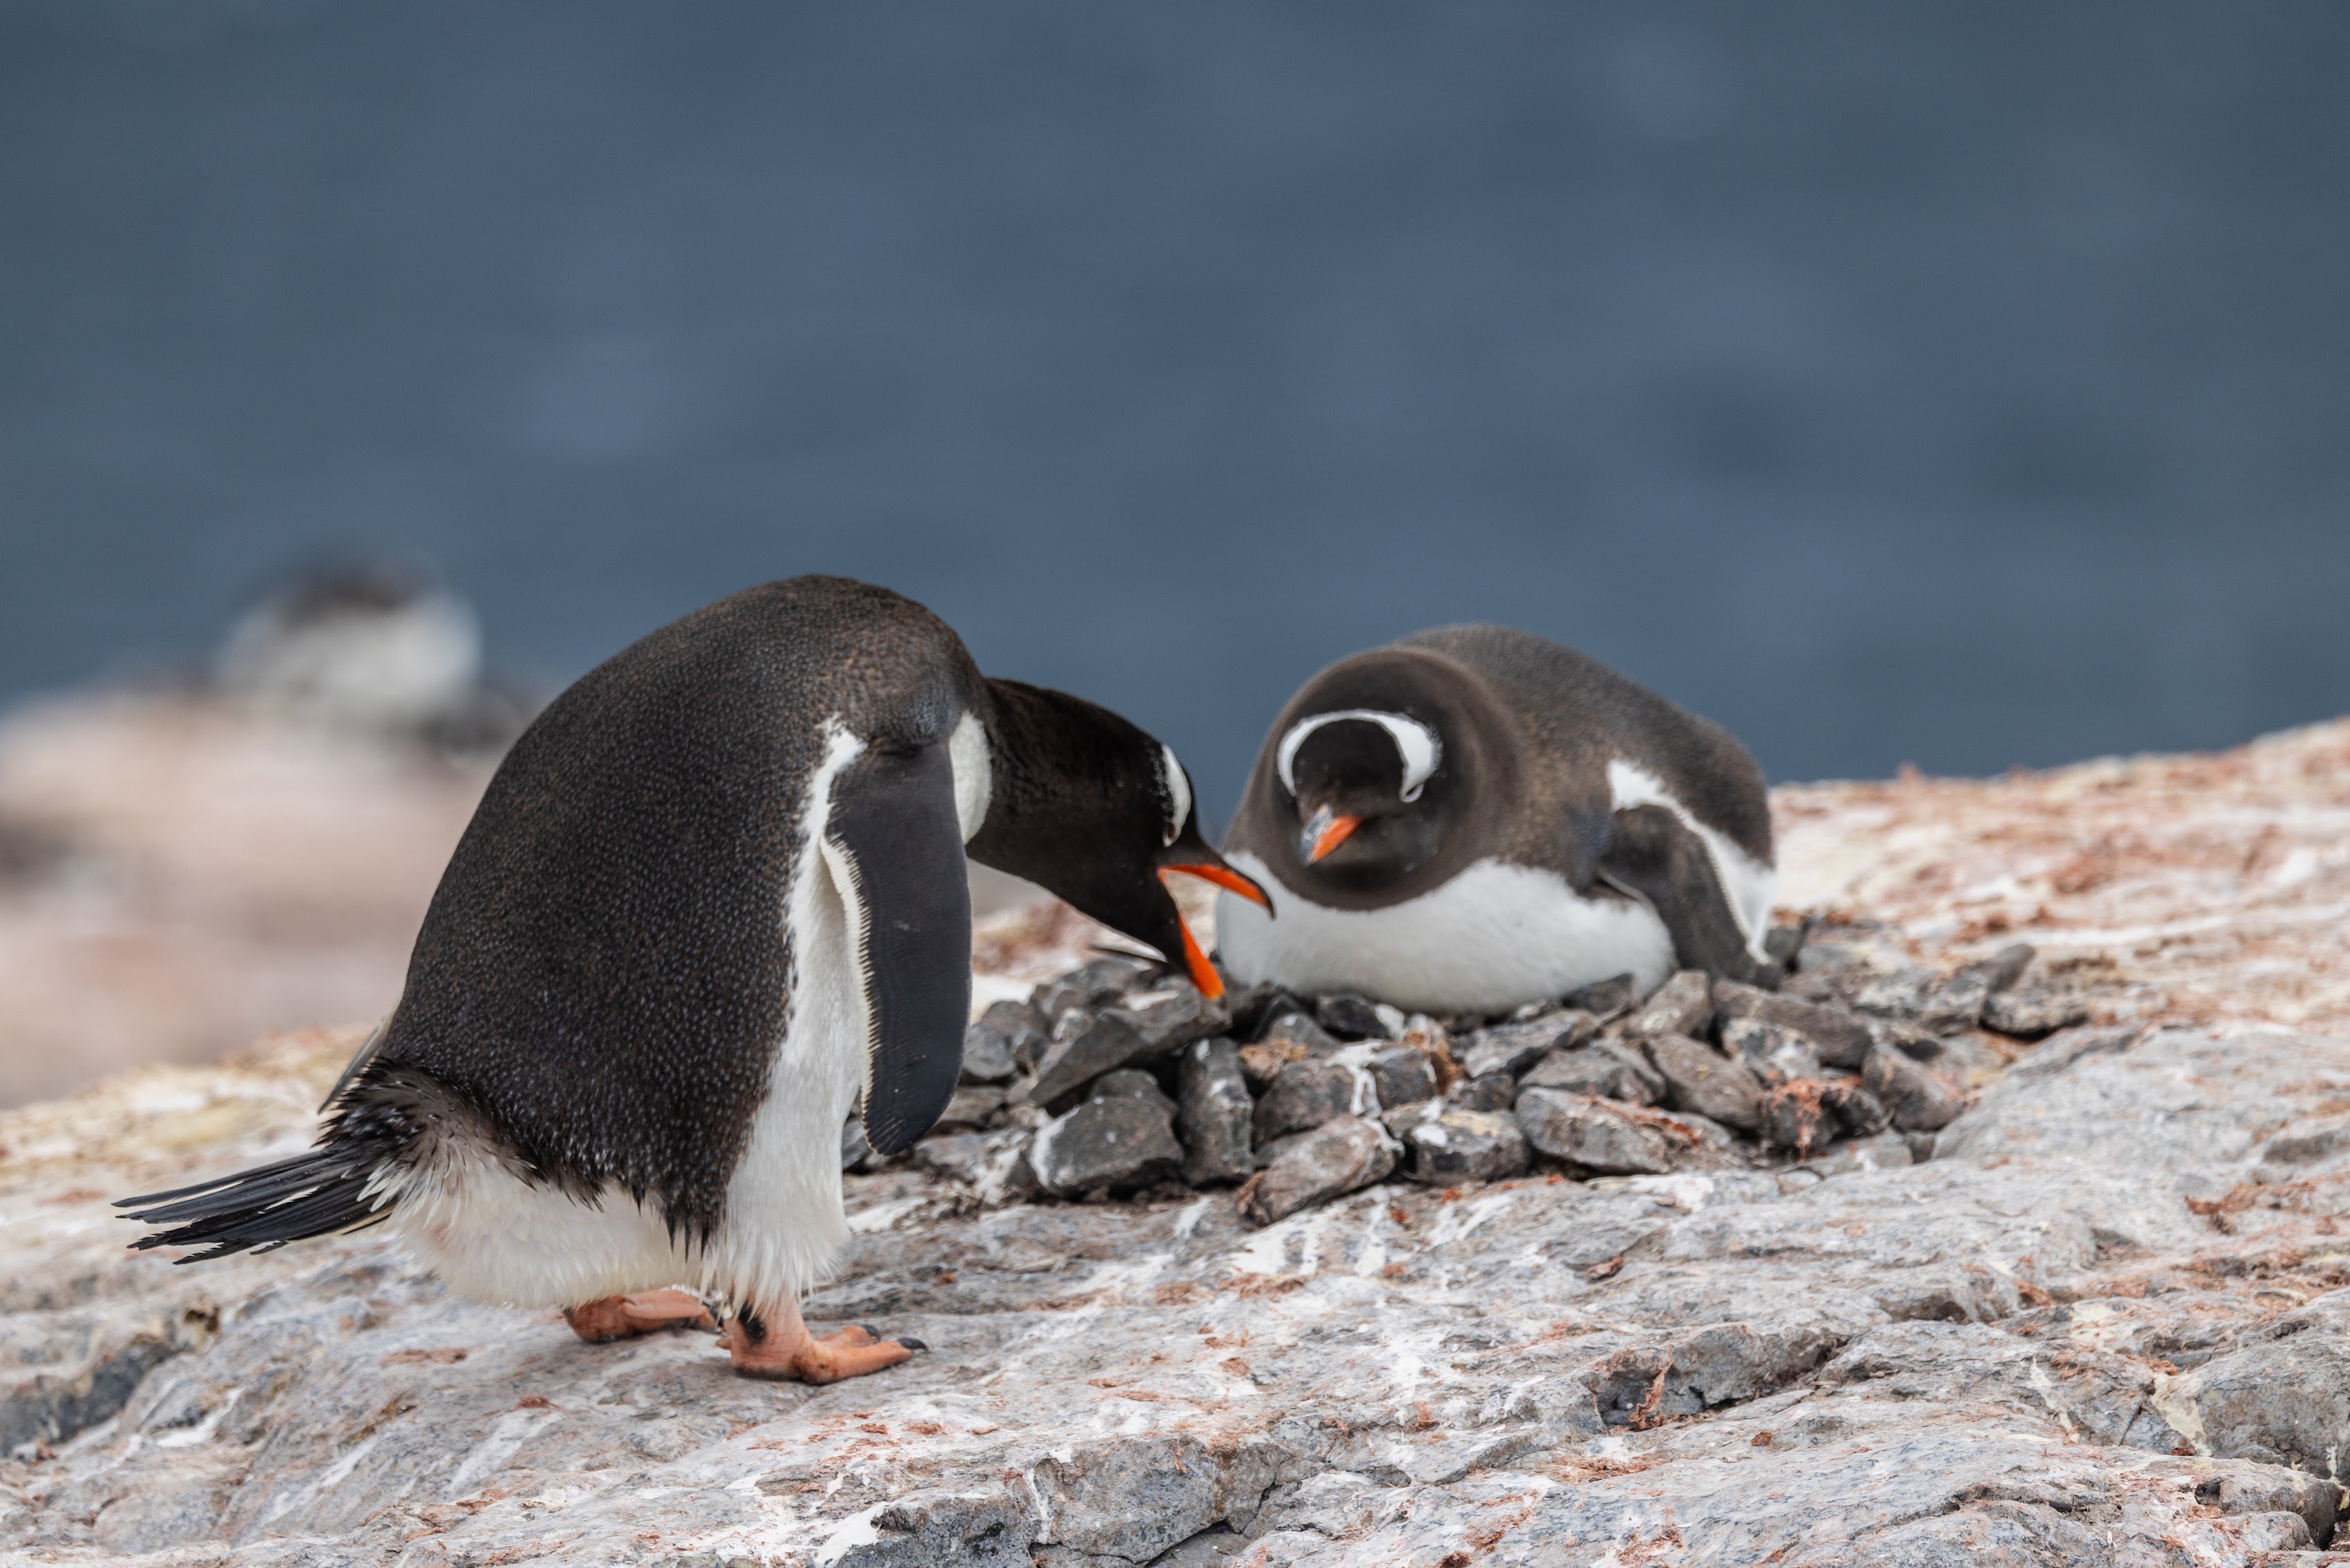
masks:
[(1622, 973), (1647, 992), (1673, 971), (1673, 938), (1647, 905), (1579, 898), (1556, 872), (1478, 860), (1419, 898), (1332, 910), (1290, 891), (1246, 851), (1231, 863), (1281, 886), (1278, 919), (1231, 893), (1217, 900), (1217, 947), (1248, 985), (1278, 980), (1434, 1013), (1504, 1013)]

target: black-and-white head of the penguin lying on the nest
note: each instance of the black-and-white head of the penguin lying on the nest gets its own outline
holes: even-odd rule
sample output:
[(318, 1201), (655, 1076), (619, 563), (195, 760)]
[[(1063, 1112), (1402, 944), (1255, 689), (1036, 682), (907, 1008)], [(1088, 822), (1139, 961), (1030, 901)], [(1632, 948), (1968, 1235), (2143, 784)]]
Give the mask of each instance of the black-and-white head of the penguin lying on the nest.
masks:
[(1283, 731), (1274, 766), (1297, 811), (1297, 860), (1332, 886), (1398, 882), (1443, 849), (1455, 778), (1426, 719), (1382, 708), (1311, 712)]

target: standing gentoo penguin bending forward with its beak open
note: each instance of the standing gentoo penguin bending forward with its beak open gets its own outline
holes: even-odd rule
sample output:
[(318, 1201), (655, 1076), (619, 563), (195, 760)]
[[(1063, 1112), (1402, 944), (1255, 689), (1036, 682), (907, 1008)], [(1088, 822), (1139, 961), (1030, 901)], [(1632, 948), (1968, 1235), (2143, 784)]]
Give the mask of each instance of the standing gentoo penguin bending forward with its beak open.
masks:
[[(489, 783), (397, 1009), (308, 1154), (125, 1199), (139, 1246), (388, 1220), (458, 1293), (599, 1340), (731, 1305), (743, 1373), (832, 1382), (919, 1345), (815, 1340), (848, 1237), (841, 1121), (909, 1147), (961, 1067), (964, 853), (1041, 882), (1220, 992), (1161, 877), (1243, 898), (1175, 752), (987, 679), (884, 588), (719, 599), (564, 691)], [(181, 1262), (193, 1262), (183, 1258)]]

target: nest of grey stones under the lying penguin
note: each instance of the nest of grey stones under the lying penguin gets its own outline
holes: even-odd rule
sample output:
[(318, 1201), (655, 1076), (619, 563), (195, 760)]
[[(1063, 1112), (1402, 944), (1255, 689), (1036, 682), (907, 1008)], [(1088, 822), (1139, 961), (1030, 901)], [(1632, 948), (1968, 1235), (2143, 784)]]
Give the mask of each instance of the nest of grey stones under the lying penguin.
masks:
[(1238, 1185), (1255, 1225), (1389, 1178), (1906, 1166), (2030, 1041), (2127, 1009), (2096, 966), (2035, 964), (2028, 943), (1939, 973), (1854, 922), (1779, 926), (1770, 947), (1784, 990), (1683, 971), (1638, 997), (1619, 976), (1506, 1018), (1276, 985), (1210, 1001), (1104, 954), (971, 1025), (961, 1086), (909, 1154), (881, 1159), (851, 1119), (841, 1161), (982, 1206)]

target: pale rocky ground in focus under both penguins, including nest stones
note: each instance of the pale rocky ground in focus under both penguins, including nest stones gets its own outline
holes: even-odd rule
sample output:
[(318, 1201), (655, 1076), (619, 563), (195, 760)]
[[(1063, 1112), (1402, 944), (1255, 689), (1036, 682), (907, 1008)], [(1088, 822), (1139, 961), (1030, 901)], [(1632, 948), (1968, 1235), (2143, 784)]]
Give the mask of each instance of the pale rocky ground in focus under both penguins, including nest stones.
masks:
[(707, 1335), (580, 1345), (367, 1237), (120, 1251), (103, 1199), (298, 1147), (357, 1032), (7, 1112), (0, 1542), (2331, 1561), (2350, 724), (1777, 811), (1779, 994), (1220, 1013), (1067, 978), (1095, 936), (1067, 912), (994, 922), (1008, 1006), (954, 1124), (846, 1150), (858, 1239), (808, 1302), (931, 1349), (830, 1389), (736, 1380)]

